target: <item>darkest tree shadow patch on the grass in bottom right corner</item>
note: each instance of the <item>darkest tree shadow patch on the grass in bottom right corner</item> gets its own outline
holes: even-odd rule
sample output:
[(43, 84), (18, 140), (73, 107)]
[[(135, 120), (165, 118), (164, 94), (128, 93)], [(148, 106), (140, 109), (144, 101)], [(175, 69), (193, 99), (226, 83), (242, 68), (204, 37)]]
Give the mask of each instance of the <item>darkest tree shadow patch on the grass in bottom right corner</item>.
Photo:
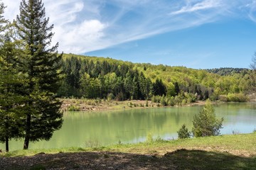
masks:
[(180, 149), (165, 154), (162, 159), (174, 164), (176, 169), (256, 169), (256, 157), (239, 157), (225, 152)]

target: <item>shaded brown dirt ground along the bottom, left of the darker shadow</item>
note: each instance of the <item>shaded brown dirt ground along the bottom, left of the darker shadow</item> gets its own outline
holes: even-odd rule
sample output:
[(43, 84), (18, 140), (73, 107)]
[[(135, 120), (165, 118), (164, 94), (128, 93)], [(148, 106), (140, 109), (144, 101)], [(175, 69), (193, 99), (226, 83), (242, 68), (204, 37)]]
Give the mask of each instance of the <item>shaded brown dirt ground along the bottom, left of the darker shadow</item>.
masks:
[(167, 159), (140, 154), (79, 152), (0, 157), (0, 169), (175, 169)]

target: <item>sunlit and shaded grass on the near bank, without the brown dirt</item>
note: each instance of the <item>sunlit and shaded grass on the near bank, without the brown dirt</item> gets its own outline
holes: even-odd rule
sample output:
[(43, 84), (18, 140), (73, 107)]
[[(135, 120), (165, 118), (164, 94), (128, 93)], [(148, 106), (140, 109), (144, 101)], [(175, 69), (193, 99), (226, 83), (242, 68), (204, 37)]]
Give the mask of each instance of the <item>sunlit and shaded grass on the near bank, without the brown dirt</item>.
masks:
[[(95, 153), (90, 159), (104, 160), (113, 157), (114, 153), (122, 153), (130, 164), (169, 165), (171, 169), (256, 169), (256, 132), (251, 134), (222, 135), (217, 137), (198, 137), (183, 140), (165, 141), (159, 138), (138, 144), (122, 144), (107, 147), (70, 147), (61, 149), (28, 149), (1, 153), (1, 157), (21, 157), (35, 154), (67, 153), (73, 157), (73, 152)], [(31, 169), (47, 169), (48, 167), (65, 167), (63, 162), (45, 162), (35, 164)], [(122, 162), (120, 163), (122, 164)], [(82, 166), (82, 162), (75, 162), (73, 168)]]

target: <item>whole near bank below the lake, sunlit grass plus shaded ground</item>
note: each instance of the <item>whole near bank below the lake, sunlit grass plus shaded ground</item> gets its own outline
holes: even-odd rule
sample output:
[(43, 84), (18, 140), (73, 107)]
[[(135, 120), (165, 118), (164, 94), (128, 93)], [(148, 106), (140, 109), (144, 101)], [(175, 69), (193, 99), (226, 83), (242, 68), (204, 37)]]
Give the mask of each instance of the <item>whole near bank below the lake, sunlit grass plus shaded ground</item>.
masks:
[[(29, 156), (29, 157), (28, 157)], [(0, 154), (0, 169), (256, 169), (256, 132)]]

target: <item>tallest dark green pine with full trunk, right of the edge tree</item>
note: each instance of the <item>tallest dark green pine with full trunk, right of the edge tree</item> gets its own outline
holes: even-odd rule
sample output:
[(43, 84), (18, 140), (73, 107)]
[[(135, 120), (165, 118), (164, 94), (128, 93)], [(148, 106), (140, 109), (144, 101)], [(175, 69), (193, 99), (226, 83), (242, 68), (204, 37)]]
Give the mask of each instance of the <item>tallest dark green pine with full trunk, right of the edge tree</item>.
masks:
[(26, 101), (26, 127), (23, 149), (29, 141), (50, 140), (53, 132), (61, 128), (63, 113), (56, 98), (60, 80), (58, 43), (50, 47), (53, 25), (48, 27), (45, 8), (41, 0), (22, 0), (17, 16), (18, 37), (23, 42), (23, 55), (18, 69), (26, 74), (24, 96)]

